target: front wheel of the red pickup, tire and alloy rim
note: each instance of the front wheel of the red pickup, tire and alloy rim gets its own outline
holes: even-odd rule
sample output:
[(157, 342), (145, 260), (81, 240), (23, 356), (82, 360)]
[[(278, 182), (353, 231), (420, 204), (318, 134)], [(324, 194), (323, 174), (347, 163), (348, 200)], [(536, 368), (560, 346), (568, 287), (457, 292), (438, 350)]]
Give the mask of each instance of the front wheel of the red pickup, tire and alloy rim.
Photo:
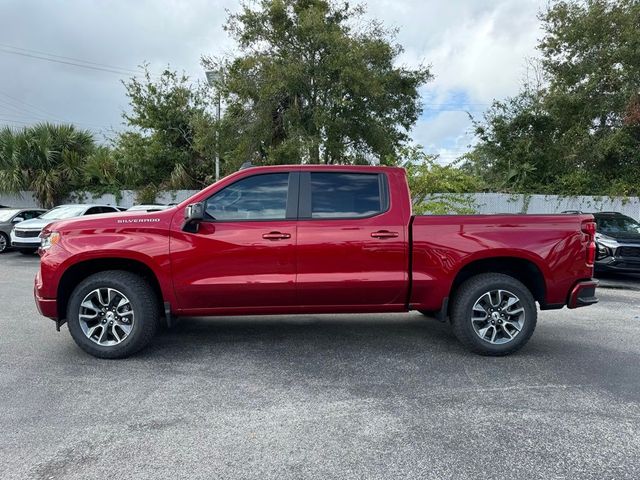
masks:
[(67, 323), (73, 340), (99, 358), (124, 358), (146, 347), (158, 329), (160, 301), (142, 277), (95, 273), (75, 288)]

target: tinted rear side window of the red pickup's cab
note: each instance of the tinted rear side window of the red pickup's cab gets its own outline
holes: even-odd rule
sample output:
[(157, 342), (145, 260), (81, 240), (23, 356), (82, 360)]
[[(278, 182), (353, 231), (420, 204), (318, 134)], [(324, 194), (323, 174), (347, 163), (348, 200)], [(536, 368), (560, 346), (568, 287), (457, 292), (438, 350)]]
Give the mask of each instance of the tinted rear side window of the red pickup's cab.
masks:
[(311, 173), (311, 218), (369, 217), (386, 210), (376, 173)]

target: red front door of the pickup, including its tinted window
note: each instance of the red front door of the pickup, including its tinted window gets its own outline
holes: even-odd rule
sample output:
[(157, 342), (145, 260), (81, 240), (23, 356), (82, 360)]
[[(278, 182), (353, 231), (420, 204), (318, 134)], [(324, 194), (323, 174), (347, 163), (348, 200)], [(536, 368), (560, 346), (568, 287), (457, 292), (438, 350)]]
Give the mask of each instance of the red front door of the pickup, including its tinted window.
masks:
[(245, 177), (209, 197), (196, 233), (172, 232), (180, 308), (215, 314), (294, 306), (297, 204), (297, 172)]

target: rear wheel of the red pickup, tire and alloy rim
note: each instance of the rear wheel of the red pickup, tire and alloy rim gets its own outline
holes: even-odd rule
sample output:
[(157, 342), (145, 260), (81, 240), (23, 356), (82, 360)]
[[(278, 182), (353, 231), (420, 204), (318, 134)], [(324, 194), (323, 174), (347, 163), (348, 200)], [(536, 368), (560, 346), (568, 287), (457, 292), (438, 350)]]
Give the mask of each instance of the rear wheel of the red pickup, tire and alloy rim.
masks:
[(457, 289), (451, 310), (453, 332), (480, 355), (508, 355), (522, 348), (536, 328), (533, 295), (509, 275), (476, 275)]

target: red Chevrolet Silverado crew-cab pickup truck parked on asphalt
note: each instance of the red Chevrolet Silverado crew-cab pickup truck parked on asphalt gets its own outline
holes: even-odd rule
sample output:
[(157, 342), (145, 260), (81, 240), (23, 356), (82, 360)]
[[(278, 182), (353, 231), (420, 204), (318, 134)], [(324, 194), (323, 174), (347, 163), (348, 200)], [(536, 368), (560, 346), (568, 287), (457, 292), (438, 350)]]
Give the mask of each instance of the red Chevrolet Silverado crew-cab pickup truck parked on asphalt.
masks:
[(418, 310), (485, 355), (597, 301), (591, 215), (413, 216), (405, 171), (241, 170), (168, 210), (48, 225), (40, 312), (119, 358), (179, 316)]

